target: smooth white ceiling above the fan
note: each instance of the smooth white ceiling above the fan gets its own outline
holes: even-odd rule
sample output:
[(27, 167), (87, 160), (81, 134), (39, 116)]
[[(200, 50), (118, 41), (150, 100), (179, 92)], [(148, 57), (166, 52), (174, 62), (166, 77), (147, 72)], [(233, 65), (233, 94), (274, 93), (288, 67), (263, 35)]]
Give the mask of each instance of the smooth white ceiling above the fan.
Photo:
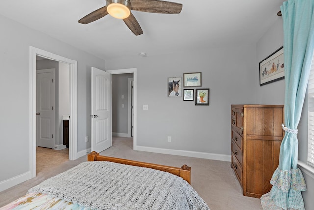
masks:
[(256, 43), (278, 19), (284, 0), (169, 0), (180, 14), (132, 11), (143, 33), (107, 15), (90, 24), (78, 20), (105, 0), (1, 0), (0, 14), (102, 59), (147, 56), (208, 47)]

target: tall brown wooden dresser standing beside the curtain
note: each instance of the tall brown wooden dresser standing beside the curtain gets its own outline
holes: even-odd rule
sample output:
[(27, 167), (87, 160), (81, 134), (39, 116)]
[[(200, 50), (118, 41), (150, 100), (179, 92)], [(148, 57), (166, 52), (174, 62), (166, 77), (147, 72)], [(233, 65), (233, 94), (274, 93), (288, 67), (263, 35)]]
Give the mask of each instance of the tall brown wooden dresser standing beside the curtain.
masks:
[(278, 167), (284, 105), (231, 105), (231, 167), (243, 195), (260, 198)]

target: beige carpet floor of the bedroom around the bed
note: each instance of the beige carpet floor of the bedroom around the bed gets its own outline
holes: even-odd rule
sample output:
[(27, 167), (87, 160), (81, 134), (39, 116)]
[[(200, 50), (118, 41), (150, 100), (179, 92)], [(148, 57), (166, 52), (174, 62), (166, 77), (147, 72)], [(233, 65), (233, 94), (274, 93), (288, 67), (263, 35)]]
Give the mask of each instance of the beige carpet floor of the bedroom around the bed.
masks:
[[(242, 195), (241, 186), (230, 167), (230, 162), (134, 151), (132, 138), (121, 137), (114, 137), (112, 147), (101, 154), (176, 167), (187, 164), (192, 168), (192, 187), (211, 210), (262, 210), (260, 199)], [(87, 157), (83, 156), (74, 161), (66, 159), (59, 165), (44, 166), (43, 170), (38, 170), (35, 178), (0, 192), (0, 207), (25, 195), (28, 189), (43, 180), (86, 160)]]

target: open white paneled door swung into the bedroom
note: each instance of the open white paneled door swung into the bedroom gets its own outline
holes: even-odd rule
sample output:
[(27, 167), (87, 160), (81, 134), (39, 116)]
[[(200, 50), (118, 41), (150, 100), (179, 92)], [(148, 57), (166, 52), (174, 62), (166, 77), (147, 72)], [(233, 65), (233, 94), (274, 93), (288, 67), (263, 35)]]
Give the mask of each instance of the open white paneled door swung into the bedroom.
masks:
[(111, 74), (92, 67), (92, 151), (112, 145)]

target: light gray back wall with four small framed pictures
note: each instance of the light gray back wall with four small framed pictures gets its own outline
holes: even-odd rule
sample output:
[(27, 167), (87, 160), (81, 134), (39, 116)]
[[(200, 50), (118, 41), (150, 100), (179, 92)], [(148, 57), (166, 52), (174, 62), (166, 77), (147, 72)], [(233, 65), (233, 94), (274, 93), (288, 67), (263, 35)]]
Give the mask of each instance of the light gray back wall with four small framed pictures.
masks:
[[(137, 68), (138, 146), (230, 155), (230, 105), (256, 101), (255, 60), (255, 45), (240, 45), (106, 60), (106, 69)], [(168, 97), (168, 77), (188, 72), (202, 72), (209, 106)]]

